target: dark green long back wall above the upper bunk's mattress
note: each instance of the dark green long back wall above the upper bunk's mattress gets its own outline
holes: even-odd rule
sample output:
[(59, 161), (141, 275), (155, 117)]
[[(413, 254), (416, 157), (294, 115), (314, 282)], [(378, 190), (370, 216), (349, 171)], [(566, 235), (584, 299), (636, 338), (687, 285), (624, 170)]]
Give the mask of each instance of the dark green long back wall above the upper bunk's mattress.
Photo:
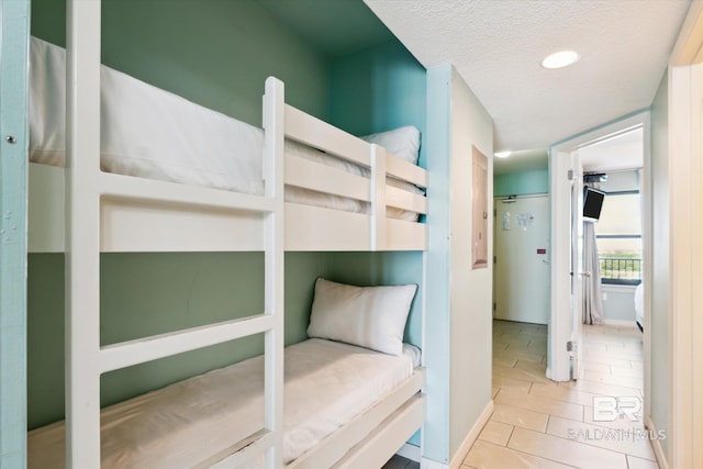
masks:
[[(32, 3), (32, 34), (65, 46), (65, 2)], [(210, 109), (260, 125), (276, 76), (288, 103), (327, 118), (327, 58), (256, 1), (103, 0), (102, 30), (103, 64)]]

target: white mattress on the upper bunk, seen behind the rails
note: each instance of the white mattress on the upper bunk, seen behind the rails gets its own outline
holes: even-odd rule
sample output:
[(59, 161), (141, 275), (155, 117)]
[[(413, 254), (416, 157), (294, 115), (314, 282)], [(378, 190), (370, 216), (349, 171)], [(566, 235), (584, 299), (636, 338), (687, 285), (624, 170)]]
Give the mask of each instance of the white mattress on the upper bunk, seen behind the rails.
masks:
[[(66, 52), (31, 38), (30, 160), (65, 166)], [(126, 176), (264, 194), (263, 130), (101, 66), (101, 169)], [(287, 142), (287, 152), (356, 175), (369, 171)], [(422, 193), (394, 179), (390, 185)], [(366, 202), (287, 187), (286, 201), (357, 213)], [(388, 216), (417, 214), (389, 208)]]

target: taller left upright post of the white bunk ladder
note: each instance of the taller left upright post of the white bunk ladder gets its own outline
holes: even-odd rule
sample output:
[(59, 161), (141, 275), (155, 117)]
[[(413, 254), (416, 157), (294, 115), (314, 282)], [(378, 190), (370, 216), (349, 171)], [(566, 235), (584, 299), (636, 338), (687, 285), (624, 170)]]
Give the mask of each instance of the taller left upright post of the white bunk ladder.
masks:
[(100, 0), (68, 0), (66, 467), (100, 467)]

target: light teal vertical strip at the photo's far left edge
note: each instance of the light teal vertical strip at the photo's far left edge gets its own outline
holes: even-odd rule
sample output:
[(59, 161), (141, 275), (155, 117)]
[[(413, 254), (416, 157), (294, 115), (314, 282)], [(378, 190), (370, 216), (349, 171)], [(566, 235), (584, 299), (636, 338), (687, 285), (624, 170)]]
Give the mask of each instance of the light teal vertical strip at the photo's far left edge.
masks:
[[(29, 0), (0, 2), (0, 467), (26, 460)], [(14, 143), (7, 141), (15, 138)]]

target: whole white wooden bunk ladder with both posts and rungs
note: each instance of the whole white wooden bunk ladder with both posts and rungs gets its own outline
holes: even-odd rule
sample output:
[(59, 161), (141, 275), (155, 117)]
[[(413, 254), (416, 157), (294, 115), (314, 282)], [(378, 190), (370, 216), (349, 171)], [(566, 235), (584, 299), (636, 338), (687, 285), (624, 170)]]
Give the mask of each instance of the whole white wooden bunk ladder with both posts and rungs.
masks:
[[(266, 454), (282, 466), (283, 421), (283, 86), (266, 82), (265, 197), (125, 178), (100, 171), (100, 0), (67, 1), (66, 467), (100, 467), (100, 376), (157, 358), (265, 333), (265, 428), (233, 442), (211, 466)], [(219, 193), (216, 193), (219, 192)], [(100, 346), (101, 200), (149, 200), (260, 213), (265, 239), (263, 314)], [(245, 447), (241, 451), (237, 449)]]

